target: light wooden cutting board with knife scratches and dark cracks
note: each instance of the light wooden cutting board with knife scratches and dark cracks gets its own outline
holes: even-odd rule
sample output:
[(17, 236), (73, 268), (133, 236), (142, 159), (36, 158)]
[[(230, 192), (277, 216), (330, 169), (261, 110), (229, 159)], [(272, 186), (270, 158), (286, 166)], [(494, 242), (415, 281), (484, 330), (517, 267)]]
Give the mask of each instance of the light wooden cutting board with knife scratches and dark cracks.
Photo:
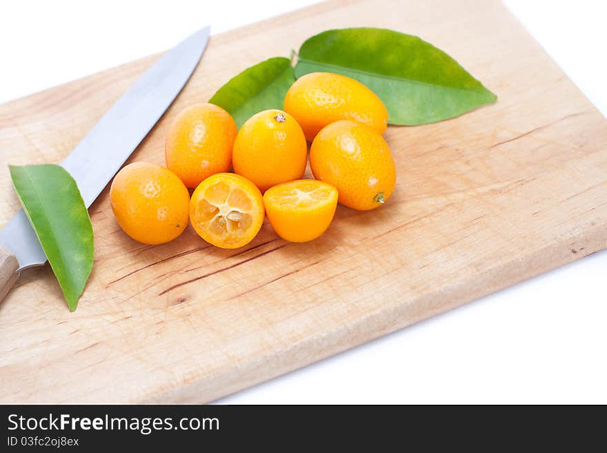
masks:
[[(130, 161), (163, 163), (175, 114), (237, 72), (349, 26), (417, 34), (499, 101), (388, 128), (392, 198), (340, 206), (312, 243), (286, 243), (266, 221), (242, 250), (191, 227), (142, 245), (106, 188), (90, 208), (95, 263), (78, 310), (48, 265), (0, 304), (2, 403), (211, 401), (606, 248), (607, 120), (497, 0), (331, 1), (214, 36)], [(0, 225), (19, 208), (6, 163), (61, 161), (155, 59), (0, 106)]]

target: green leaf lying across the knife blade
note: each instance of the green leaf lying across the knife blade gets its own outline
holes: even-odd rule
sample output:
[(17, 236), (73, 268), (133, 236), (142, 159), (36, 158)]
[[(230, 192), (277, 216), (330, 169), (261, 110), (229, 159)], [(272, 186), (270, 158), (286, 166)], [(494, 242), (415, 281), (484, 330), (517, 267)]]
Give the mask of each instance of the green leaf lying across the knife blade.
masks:
[(93, 263), (92, 225), (76, 181), (59, 165), (9, 168), (19, 201), (73, 312)]

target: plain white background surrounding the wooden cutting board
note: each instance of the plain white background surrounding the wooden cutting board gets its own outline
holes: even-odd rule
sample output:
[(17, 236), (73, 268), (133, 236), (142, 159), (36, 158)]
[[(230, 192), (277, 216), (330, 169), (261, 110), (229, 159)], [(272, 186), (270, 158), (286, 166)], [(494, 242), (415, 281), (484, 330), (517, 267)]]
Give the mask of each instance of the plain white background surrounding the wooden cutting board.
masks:
[[(311, 3), (6, 2), (0, 102)], [(506, 5), (607, 114), (606, 2)], [(599, 252), (220, 402), (607, 403), (606, 276)]]

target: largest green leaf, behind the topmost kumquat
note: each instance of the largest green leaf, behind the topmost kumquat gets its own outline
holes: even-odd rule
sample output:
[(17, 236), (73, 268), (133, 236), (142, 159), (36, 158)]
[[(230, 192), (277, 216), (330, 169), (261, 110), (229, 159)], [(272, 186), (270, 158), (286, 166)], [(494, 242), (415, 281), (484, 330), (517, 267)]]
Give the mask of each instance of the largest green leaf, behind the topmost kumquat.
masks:
[(295, 75), (316, 71), (367, 85), (384, 101), (392, 124), (433, 123), (497, 99), (442, 50), (383, 28), (344, 28), (311, 37), (299, 49)]

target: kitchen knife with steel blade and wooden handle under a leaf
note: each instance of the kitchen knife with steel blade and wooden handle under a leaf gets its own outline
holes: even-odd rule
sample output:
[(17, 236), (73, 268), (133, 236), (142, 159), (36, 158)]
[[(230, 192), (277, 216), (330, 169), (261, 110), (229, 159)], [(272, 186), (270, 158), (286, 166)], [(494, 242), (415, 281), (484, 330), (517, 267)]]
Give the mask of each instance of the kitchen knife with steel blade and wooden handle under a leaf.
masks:
[[(88, 208), (186, 85), (206, 48), (210, 27), (181, 41), (137, 79), (61, 166), (76, 180)], [(0, 301), (21, 270), (46, 263), (23, 210), (0, 230)]]

